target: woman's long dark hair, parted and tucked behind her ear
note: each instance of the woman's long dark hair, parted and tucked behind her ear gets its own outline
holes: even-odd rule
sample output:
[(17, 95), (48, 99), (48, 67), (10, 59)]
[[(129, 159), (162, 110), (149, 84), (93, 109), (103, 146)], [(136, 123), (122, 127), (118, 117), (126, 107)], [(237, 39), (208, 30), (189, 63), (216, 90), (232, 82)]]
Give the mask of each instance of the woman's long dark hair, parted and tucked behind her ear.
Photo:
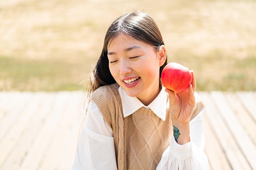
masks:
[[(99, 56), (99, 60), (92, 71), (92, 77), (89, 84), (89, 94), (103, 85), (116, 83), (115, 79), (110, 74), (108, 67), (108, 44), (119, 33), (126, 34), (146, 44), (150, 44), (158, 50), (164, 41), (159, 28), (155, 21), (146, 13), (133, 12), (122, 15), (117, 18), (108, 28), (106, 33), (103, 50)], [(167, 64), (167, 57), (164, 65), (160, 67), (160, 77), (164, 66)]]

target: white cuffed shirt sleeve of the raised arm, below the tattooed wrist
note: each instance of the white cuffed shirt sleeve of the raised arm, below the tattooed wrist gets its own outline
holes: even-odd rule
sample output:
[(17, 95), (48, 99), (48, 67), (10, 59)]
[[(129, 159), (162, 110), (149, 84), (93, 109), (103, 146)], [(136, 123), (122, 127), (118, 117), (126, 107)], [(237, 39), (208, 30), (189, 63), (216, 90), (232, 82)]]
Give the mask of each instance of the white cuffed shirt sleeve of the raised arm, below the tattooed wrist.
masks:
[(180, 145), (171, 135), (171, 142), (164, 151), (157, 170), (209, 170), (204, 150), (202, 111), (190, 122), (190, 142)]

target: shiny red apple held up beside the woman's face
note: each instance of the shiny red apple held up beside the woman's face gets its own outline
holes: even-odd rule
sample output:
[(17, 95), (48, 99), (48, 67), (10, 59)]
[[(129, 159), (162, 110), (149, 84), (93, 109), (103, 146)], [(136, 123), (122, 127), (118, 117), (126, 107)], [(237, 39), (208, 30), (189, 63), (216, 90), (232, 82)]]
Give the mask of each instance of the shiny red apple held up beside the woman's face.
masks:
[(168, 63), (161, 75), (162, 85), (173, 92), (180, 93), (189, 87), (192, 81), (190, 70), (178, 63)]

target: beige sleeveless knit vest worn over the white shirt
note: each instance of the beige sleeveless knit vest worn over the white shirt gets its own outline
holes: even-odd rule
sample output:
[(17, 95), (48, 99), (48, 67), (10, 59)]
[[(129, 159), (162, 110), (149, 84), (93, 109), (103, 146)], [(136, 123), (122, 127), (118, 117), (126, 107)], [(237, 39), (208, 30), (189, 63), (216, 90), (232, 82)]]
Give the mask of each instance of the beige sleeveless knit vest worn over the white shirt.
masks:
[[(173, 132), (168, 98), (165, 121), (146, 108), (124, 118), (118, 87), (117, 83), (101, 86), (90, 98), (113, 130), (118, 169), (155, 170)], [(197, 102), (191, 119), (203, 107), (201, 101)]]

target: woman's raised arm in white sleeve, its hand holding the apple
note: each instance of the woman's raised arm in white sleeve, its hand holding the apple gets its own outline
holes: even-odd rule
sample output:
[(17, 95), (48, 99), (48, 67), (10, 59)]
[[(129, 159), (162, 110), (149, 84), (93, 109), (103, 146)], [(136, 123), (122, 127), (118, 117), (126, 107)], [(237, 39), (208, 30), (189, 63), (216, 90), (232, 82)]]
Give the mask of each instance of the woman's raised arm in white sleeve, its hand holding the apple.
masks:
[(193, 71), (191, 73), (191, 85), (184, 92), (176, 94), (166, 89), (170, 98), (173, 135), (157, 170), (209, 170), (208, 160), (203, 152), (201, 116), (198, 115), (190, 122), (195, 107), (196, 85)]

